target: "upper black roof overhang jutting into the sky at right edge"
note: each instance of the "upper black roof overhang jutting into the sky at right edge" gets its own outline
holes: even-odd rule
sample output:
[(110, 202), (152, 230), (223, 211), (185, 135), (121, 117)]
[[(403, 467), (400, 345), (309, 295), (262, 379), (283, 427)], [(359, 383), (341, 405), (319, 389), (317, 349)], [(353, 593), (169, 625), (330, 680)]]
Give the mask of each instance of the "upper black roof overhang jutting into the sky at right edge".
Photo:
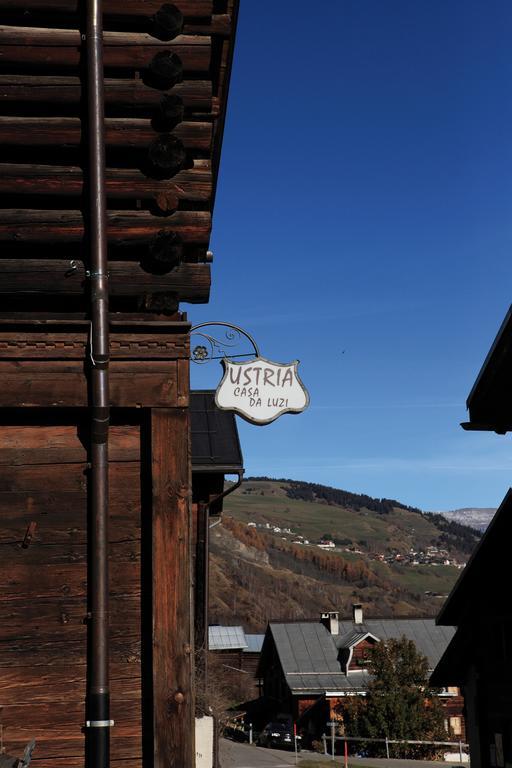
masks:
[(512, 431), (512, 307), (467, 399), (467, 430)]

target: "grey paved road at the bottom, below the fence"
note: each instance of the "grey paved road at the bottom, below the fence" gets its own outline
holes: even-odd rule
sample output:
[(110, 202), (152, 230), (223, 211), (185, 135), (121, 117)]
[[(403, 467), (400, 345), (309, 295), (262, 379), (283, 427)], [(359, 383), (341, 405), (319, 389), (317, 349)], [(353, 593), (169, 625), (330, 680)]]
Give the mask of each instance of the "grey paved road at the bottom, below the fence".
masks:
[[(235, 741), (221, 739), (220, 757), (222, 768), (288, 768), (295, 765), (295, 754), (280, 749), (266, 749), (265, 747), (238, 744)], [(325, 768), (333, 766), (339, 768), (343, 765), (343, 757), (336, 756), (332, 761), (324, 755), (303, 752), (299, 755), (299, 768), (303, 760), (318, 760), (325, 763)], [(351, 767), (360, 765), (361, 768), (371, 766), (373, 768), (460, 768), (460, 763), (429, 762), (426, 760), (387, 760), (386, 758), (349, 758)], [(467, 766), (467, 763), (465, 764)]]

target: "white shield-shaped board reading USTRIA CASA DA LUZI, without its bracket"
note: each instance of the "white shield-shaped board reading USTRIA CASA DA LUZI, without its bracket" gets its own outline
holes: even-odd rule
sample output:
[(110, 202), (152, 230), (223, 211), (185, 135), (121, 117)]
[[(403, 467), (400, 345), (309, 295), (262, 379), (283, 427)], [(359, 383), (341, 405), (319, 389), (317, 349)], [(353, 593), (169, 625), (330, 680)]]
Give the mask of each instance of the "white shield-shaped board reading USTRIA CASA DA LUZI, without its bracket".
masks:
[(301, 413), (308, 407), (309, 395), (297, 373), (298, 364), (298, 360), (273, 363), (264, 357), (242, 363), (224, 359), (215, 404), (251, 424), (270, 424), (283, 413)]

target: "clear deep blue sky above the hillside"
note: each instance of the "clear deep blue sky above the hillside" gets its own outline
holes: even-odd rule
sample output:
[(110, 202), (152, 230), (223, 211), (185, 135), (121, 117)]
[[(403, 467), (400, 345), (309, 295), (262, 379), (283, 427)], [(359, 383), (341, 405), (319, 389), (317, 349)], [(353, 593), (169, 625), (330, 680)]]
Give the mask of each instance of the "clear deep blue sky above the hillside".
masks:
[[(495, 506), (465, 400), (512, 301), (512, 3), (241, 0), (210, 304), (311, 406), (239, 422), (248, 474)], [(193, 366), (193, 386), (220, 366)]]

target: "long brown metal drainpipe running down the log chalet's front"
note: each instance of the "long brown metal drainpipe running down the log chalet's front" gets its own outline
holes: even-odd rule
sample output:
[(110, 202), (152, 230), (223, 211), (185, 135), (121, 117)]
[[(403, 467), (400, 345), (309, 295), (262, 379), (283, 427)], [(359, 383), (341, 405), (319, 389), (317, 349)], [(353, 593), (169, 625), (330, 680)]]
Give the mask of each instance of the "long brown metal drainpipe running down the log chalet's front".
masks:
[(89, 240), (91, 301), (91, 525), (90, 655), (87, 690), (87, 747), (91, 768), (110, 763), (108, 428), (109, 328), (103, 100), (103, 9), (88, 0), (86, 19), (89, 143)]

